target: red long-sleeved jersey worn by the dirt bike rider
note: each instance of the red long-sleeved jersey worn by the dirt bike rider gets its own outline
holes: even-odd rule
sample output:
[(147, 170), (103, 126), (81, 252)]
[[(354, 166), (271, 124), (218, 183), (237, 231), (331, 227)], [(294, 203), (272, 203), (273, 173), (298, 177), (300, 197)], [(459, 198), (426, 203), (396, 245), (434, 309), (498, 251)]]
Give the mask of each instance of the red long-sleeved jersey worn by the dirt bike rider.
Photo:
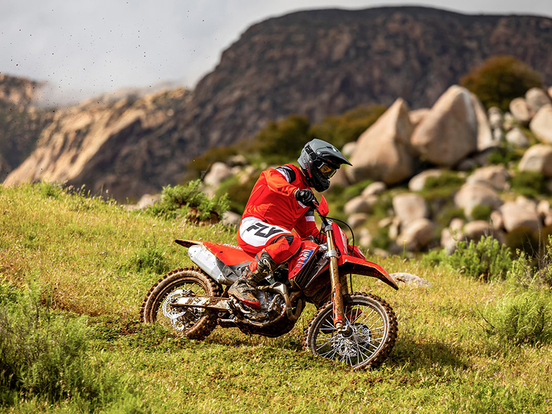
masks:
[(297, 231), (300, 237), (316, 236), (314, 210), (297, 201), (295, 191), (311, 189), (301, 169), (293, 164), (261, 172), (247, 201), (242, 219), (262, 221)]

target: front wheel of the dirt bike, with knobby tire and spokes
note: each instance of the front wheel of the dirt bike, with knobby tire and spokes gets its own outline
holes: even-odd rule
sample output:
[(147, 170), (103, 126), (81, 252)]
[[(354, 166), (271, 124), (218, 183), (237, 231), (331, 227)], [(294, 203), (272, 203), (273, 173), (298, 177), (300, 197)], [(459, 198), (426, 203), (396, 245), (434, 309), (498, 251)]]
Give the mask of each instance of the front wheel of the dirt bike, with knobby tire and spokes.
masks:
[(388, 357), (397, 339), (397, 317), (384, 299), (369, 293), (344, 295), (345, 317), (351, 328), (338, 333), (332, 302), (319, 308), (306, 329), (304, 347), (314, 355), (353, 368), (376, 368)]

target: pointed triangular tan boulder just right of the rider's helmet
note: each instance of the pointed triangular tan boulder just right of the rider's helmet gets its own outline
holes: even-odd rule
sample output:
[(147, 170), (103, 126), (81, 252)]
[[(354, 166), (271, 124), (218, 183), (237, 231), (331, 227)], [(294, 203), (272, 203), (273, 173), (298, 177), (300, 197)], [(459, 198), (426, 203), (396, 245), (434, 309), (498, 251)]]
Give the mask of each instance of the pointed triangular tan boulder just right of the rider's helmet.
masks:
[(414, 157), (410, 147), (413, 127), (403, 99), (395, 103), (357, 140), (347, 172), (352, 182), (364, 179), (396, 184), (413, 175)]

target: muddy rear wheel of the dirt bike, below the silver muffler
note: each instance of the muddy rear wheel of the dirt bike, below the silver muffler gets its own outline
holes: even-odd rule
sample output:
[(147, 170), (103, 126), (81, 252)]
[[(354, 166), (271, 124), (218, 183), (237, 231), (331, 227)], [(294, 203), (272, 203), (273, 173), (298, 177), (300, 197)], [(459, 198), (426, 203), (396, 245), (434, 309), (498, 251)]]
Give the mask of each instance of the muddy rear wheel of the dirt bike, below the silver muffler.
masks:
[(161, 277), (149, 290), (140, 307), (145, 324), (160, 324), (184, 333), (190, 339), (204, 339), (217, 326), (215, 311), (170, 306), (184, 296), (221, 296), (216, 282), (193, 266), (179, 268)]

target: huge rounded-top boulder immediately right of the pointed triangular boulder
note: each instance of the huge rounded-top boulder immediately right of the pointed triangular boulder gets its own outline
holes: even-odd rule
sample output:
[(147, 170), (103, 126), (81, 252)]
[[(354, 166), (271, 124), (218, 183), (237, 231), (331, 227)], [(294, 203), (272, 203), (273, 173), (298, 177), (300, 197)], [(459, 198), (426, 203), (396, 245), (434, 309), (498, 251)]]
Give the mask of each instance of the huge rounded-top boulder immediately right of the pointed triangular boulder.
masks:
[(477, 150), (477, 115), (469, 90), (451, 86), (411, 137), (414, 148), (438, 166), (454, 166)]

